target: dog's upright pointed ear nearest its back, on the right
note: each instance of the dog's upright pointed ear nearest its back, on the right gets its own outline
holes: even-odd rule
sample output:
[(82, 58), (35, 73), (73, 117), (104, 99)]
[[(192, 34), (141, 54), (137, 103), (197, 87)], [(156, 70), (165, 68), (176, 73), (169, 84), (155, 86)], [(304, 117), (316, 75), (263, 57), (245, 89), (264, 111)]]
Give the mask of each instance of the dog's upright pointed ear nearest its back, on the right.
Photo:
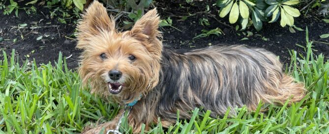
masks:
[[(159, 36), (160, 17), (157, 14), (156, 8), (147, 12), (142, 18), (137, 20), (131, 29), (131, 35), (137, 39), (154, 39)], [(144, 35), (142, 35), (142, 34)], [(147, 36), (145, 36), (147, 35)]]

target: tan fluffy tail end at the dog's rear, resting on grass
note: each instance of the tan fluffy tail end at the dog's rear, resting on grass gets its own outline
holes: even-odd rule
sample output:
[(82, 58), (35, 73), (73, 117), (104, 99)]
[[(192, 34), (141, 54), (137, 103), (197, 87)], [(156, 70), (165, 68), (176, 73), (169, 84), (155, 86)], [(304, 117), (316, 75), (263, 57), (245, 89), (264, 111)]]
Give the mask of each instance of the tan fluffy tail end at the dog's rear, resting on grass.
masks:
[(295, 82), (294, 78), (286, 74), (283, 74), (279, 83), (277, 95), (270, 97), (274, 102), (283, 104), (290, 99), (289, 103), (291, 103), (298, 102), (304, 98), (306, 90), (303, 83)]

